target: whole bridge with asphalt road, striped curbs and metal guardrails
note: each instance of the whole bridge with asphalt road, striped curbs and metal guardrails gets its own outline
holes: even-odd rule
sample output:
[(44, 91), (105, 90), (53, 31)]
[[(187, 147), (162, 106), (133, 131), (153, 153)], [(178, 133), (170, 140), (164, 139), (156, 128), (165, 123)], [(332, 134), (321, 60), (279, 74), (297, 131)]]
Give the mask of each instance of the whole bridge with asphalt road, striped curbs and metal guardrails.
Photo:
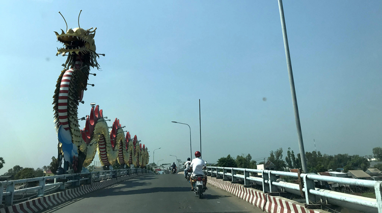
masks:
[[(382, 212), (382, 181), (284, 171), (207, 167), (203, 199), (183, 174), (105, 170), (0, 181), (7, 212)], [(299, 179), (286, 182), (277, 175)], [(376, 199), (315, 188), (314, 181), (373, 188)]]

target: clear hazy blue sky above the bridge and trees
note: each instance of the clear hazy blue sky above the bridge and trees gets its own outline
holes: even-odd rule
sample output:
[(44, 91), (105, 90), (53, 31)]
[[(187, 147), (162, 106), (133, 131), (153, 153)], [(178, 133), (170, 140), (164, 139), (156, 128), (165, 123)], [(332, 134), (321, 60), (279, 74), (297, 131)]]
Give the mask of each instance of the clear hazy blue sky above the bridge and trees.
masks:
[[(381, 146), (380, 1), (284, 1), (306, 151), (371, 155)], [(57, 154), (52, 96), (61, 64), (53, 31), (97, 27), (95, 102), (172, 163), (199, 149), (208, 162), (298, 151), (277, 1), (4, 1), (0, 8), (0, 173)], [(266, 101), (263, 98), (266, 97)], [(85, 125), (80, 123), (81, 128)], [(112, 124), (112, 123), (110, 123)], [(284, 155), (284, 156), (285, 156)]]

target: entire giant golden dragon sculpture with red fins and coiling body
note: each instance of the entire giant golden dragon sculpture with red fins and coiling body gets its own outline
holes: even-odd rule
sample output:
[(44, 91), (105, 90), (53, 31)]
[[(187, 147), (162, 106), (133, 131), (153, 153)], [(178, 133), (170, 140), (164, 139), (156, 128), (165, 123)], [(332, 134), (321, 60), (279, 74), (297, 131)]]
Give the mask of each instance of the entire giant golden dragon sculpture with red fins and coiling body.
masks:
[[(60, 15), (62, 16), (61, 13)], [(54, 120), (59, 139), (59, 162), (64, 159), (64, 168), (60, 165), (57, 172), (86, 172), (86, 167), (92, 163), (97, 151), (104, 169), (113, 169), (113, 166), (118, 164), (122, 168), (131, 164), (145, 167), (149, 161), (145, 145), (142, 147), (136, 135), (131, 139), (130, 133), (127, 132), (125, 136), (117, 118), (109, 132), (105, 119), (107, 117), (103, 117), (99, 105), (92, 105), (90, 115), (86, 117), (85, 128), (79, 129), (78, 105), (84, 103), (82, 99), (87, 85), (94, 86), (88, 84), (90, 68), (99, 69), (97, 58), (99, 55), (104, 56), (96, 53), (94, 36), (97, 27), (86, 30), (80, 28), (79, 15), (78, 27), (68, 29), (68, 24), (62, 16), (66, 23), (66, 33), (63, 29), (61, 34), (54, 32), (57, 41), (63, 44), (62, 48), (57, 48), (56, 55), (67, 56), (53, 96)]]

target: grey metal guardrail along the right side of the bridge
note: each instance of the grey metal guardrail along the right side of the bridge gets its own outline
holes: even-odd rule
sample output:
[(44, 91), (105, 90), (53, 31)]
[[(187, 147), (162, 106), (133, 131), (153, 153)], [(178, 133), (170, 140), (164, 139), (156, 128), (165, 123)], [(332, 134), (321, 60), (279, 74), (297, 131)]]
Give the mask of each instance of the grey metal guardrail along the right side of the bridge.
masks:
[[(302, 195), (303, 192), (303, 197), (305, 197), (308, 205), (329, 203), (360, 210), (362, 212), (382, 213), (382, 181), (300, 174), (300, 178), (303, 181), (303, 186), (300, 188), (300, 185), (298, 184), (276, 180), (276, 175), (298, 178), (298, 173), (295, 172), (212, 166), (207, 166), (207, 169), (204, 172), (208, 176), (222, 178), (223, 180), (231, 180), (235, 183), (243, 181), (244, 187), (252, 187), (253, 185), (262, 186), (263, 193), (289, 192), (296, 195)], [(237, 172), (243, 174), (237, 174)], [(250, 176), (250, 172), (256, 174), (261, 173), (262, 175), (261, 177)], [(376, 199), (315, 188), (314, 180), (373, 188)]]

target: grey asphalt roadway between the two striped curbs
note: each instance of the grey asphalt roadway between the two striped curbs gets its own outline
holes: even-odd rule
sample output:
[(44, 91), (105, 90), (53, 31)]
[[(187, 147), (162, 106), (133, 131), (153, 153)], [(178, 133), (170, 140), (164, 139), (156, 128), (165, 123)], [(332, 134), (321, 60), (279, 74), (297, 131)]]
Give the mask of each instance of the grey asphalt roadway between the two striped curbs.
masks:
[(183, 174), (145, 175), (119, 182), (43, 212), (263, 212), (207, 185), (203, 199), (190, 191)]

